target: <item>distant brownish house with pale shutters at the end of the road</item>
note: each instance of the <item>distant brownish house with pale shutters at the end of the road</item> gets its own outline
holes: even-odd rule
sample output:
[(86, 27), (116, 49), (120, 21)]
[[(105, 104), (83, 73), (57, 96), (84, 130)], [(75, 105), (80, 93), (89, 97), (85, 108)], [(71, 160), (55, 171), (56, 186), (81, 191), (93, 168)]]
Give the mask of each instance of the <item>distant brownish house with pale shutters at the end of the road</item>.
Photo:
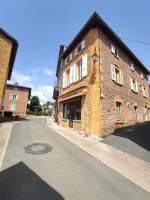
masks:
[(3, 103), (4, 116), (25, 116), (30, 96), (31, 88), (7, 84)]

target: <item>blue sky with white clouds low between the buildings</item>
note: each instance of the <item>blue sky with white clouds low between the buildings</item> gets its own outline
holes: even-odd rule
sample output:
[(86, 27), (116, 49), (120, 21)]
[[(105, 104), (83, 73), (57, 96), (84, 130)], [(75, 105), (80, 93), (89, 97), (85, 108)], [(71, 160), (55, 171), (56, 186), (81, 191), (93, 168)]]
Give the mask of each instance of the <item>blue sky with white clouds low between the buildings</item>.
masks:
[(19, 42), (11, 82), (52, 100), (59, 46), (96, 11), (150, 69), (149, 0), (0, 0), (0, 26)]

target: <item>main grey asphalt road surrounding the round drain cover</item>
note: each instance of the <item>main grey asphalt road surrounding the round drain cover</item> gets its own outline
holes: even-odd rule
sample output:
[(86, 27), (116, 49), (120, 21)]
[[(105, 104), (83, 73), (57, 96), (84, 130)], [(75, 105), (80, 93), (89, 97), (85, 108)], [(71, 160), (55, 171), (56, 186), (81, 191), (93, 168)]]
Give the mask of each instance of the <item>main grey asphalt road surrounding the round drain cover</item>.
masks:
[[(32, 155), (35, 142), (53, 150)], [(2, 200), (149, 200), (150, 194), (34, 119), (14, 126), (0, 173)]]

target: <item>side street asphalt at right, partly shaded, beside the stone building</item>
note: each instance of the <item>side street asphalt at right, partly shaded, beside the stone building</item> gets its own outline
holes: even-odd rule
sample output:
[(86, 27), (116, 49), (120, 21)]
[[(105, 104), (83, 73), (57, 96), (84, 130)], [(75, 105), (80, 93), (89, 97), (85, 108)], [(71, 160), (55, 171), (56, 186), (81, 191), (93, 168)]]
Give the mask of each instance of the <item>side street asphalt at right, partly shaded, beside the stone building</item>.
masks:
[(150, 162), (150, 122), (122, 128), (106, 137), (104, 143)]

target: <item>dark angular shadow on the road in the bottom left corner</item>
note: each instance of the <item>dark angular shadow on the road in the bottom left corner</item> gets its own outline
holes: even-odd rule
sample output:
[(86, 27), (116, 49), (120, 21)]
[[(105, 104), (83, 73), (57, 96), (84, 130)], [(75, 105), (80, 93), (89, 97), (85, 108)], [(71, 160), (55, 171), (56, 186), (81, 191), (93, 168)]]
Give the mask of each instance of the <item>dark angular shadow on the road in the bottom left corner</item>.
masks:
[(0, 172), (1, 200), (64, 200), (23, 162)]

